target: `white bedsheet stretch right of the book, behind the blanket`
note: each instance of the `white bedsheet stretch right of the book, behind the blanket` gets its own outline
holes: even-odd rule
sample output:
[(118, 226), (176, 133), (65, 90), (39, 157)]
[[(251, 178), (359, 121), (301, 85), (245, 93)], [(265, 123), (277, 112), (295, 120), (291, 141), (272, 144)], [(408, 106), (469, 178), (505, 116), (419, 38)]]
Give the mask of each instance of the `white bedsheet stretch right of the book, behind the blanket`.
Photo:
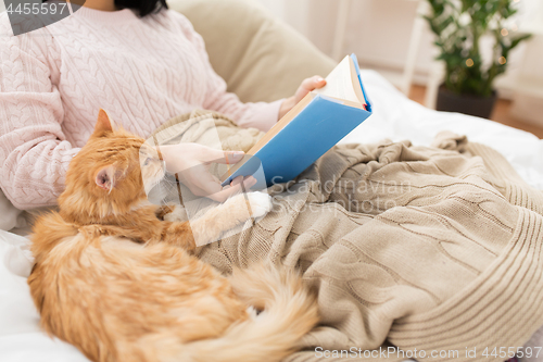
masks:
[(374, 103), (374, 114), (341, 143), (390, 138), (430, 145), (439, 132), (449, 129), (500, 151), (528, 184), (543, 189), (543, 140), (534, 135), (479, 117), (427, 109), (372, 71), (363, 71), (362, 79)]

